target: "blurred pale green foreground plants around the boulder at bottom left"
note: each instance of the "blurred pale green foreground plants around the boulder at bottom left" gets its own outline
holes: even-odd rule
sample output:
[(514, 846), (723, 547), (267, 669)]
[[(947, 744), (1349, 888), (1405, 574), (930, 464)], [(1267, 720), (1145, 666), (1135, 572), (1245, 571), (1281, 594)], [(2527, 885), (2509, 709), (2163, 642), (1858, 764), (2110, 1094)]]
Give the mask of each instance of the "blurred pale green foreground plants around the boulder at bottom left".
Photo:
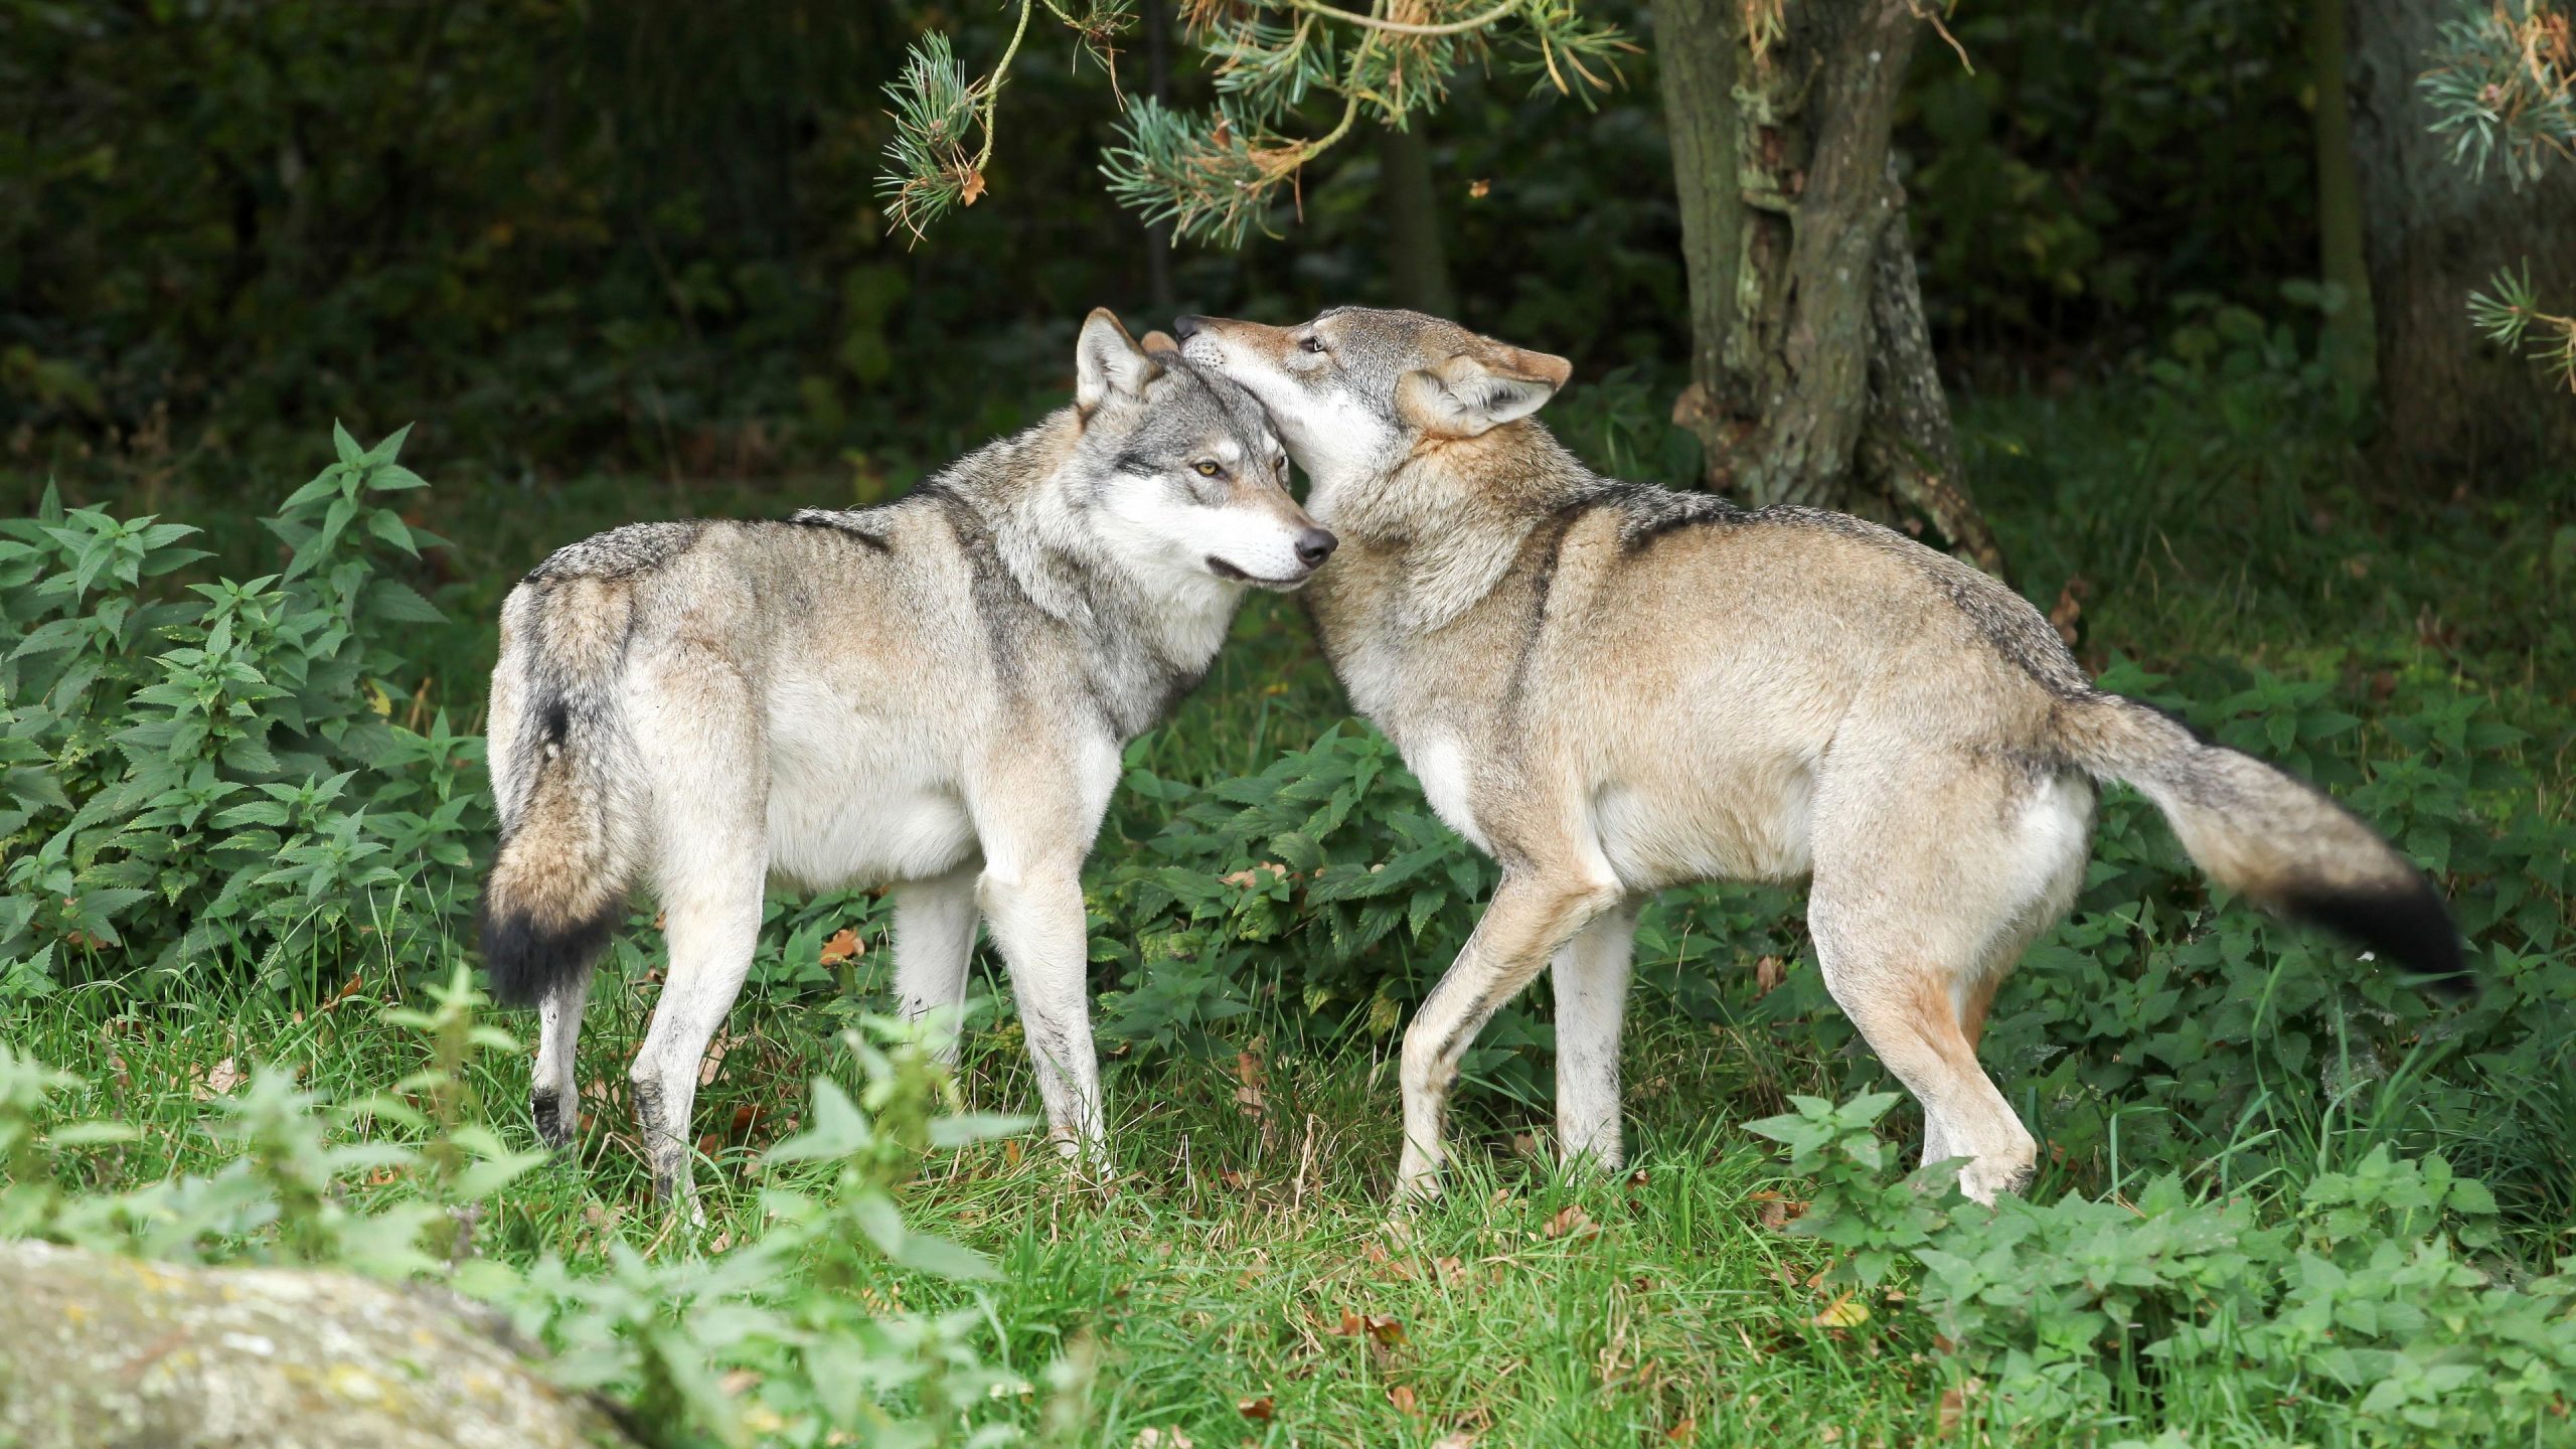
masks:
[(392, 1011), (425, 1036), (428, 1060), (384, 1096), (330, 1104), (291, 1073), (252, 1070), (242, 1091), (214, 1101), (209, 1124), (237, 1158), (124, 1194), (64, 1181), (85, 1176), (85, 1152), (134, 1129), (49, 1122), (46, 1098), (67, 1083), (0, 1044), (0, 1235), (162, 1261), (440, 1279), (546, 1343), (546, 1372), (562, 1385), (621, 1397), (657, 1444), (1018, 1441), (989, 1405), (1033, 1385), (984, 1364), (981, 1310), (881, 1312), (863, 1289), (878, 1263), (994, 1276), (966, 1248), (909, 1230), (896, 1194), (933, 1150), (1025, 1122), (948, 1111), (953, 1091), (922, 1044), (871, 1021), (848, 1036), (866, 1078), (858, 1098), (817, 1078), (811, 1127), (768, 1152), (757, 1238), (714, 1258), (649, 1258), (618, 1240), (605, 1274), (551, 1253), (515, 1266), (479, 1253), (474, 1225), (546, 1155), (507, 1150), (482, 1119), (469, 1067), (518, 1047), (474, 1018), (479, 1003), (459, 972), (430, 1011)]

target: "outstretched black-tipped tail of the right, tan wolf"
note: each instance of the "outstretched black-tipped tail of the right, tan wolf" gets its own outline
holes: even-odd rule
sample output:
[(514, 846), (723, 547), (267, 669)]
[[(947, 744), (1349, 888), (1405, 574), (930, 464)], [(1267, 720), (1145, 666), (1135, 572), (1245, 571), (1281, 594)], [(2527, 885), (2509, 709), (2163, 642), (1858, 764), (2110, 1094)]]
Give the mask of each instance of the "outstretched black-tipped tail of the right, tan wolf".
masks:
[(2218, 884), (2388, 954), (2434, 995), (2478, 993), (2424, 871), (2316, 786), (2117, 694), (2081, 699), (2061, 719), (2071, 761), (2146, 792)]

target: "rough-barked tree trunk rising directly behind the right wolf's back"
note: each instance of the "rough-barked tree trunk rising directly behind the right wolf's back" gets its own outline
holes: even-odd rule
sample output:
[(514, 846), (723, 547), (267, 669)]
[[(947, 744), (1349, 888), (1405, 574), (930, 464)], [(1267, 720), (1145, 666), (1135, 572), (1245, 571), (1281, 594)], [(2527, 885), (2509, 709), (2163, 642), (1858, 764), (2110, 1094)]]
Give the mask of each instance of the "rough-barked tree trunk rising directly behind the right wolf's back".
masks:
[[(1749, 21), (1749, 15), (1754, 21)], [(1932, 523), (1986, 570), (1888, 155), (1906, 0), (1654, 0), (1708, 485)]]

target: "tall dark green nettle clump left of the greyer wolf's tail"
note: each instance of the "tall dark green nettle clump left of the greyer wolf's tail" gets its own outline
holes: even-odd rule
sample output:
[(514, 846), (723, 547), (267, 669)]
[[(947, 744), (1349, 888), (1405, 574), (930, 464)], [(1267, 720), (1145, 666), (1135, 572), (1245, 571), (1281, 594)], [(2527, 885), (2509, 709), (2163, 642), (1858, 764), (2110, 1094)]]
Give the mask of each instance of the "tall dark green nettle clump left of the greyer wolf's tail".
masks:
[[(353, 954), (438, 967), (489, 833), (482, 740), (394, 717), (394, 578), (435, 539), (402, 433), (286, 498), (283, 567), (167, 588), (196, 529), (64, 511), (0, 521), (0, 1000), (252, 962), (286, 987)], [(144, 975), (134, 975), (147, 967)], [(157, 985), (155, 985), (157, 982)]]

